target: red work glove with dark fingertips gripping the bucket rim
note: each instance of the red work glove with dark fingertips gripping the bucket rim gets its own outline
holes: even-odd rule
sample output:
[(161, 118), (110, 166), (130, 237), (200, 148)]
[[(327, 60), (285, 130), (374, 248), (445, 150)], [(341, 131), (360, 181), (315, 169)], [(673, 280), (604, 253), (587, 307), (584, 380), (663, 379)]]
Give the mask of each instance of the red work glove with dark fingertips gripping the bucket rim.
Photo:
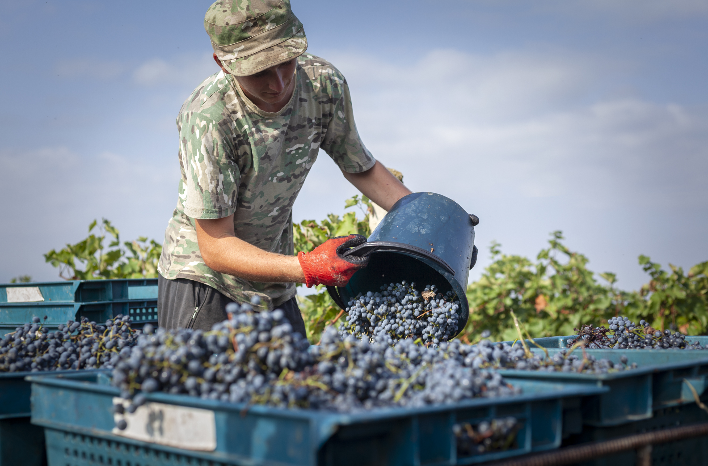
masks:
[(365, 242), (366, 238), (362, 235), (350, 234), (348, 237), (328, 239), (307, 254), (302, 251), (297, 253), (307, 288), (312, 288), (312, 285), (344, 286), (349, 283), (356, 271), (367, 266), (369, 258), (345, 257), (344, 251)]

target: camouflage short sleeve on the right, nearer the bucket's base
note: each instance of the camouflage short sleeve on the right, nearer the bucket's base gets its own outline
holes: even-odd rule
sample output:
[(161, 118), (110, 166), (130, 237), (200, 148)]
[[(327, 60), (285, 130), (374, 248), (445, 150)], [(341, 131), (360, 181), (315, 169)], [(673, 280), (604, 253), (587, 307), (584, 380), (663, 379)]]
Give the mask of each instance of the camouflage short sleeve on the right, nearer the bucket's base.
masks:
[(343, 171), (348, 173), (367, 171), (374, 166), (376, 159), (365, 147), (356, 129), (347, 81), (337, 70), (333, 70), (329, 76), (322, 76), (321, 79), (329, 81), (326, 87), (331, 90), (334, 102), (333, 115), (329, 120), (321, 148)]

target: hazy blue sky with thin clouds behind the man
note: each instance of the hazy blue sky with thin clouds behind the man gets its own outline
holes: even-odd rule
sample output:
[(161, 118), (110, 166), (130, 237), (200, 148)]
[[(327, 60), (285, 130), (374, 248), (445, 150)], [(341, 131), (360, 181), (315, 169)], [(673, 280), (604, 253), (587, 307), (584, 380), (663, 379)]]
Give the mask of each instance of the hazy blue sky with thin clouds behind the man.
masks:
[[(4, 268), (94, 218), (161, 240), (176, 205), (181, 103), (215, 71), (209, 2), (0, 4)], [(309, 52), (350, 84), (367, 147), (413, 191), (479, 215), (488, 246), (535, 256), (561, 229), (595, 271), (708, 259), (708, 3), (293, 0)], [(322, 154), (295, 220), (355, 193)]]

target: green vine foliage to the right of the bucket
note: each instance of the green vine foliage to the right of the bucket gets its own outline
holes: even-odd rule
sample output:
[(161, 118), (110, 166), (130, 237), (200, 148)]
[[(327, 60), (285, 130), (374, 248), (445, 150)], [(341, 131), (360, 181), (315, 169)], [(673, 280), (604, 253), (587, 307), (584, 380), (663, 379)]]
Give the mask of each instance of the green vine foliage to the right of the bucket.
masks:
[(512, 311), (534, 337), (570, 335), (581, 324), (599, 326), (617, 315), (635, 322), (646, 319), (661, 330), (669, 323), (690, 334), (708, 330), (708, 262), (688, 275), (671, 266), (669, 274), (640, 256), (652, 280), (640, 292), (627, 292), (615, 287), (614, 273), (598, 274), (607, 284), (598, 283), (587, 268), (588, 258), (568, 249), (562, 239), (561, 232), (552, 233), (549, 247), (535, 262), (501, 254), (500, 245), (493, 243), (493, 262), (467, 287), (470, 317), (460, 338), (472, 340), (484, 330), (497, 340), (517, 338)]

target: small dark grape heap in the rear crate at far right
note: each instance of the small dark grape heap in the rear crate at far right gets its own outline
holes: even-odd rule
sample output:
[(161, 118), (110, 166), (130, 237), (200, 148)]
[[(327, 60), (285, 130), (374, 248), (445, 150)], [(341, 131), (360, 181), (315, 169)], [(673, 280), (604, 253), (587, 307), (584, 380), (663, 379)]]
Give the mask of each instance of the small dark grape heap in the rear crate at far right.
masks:
[(580, 330), (576, 329), (578, 336), (569, 339), (567, 347), (583, 341), (590, 349), (707, 349), (697, 341), (688, 343), (686, 336), (678, 331), (653, 329), (644, 320), (636, 324), (629, 317), (612, 317), (607, 324), (608, 328), (581, 326)]

